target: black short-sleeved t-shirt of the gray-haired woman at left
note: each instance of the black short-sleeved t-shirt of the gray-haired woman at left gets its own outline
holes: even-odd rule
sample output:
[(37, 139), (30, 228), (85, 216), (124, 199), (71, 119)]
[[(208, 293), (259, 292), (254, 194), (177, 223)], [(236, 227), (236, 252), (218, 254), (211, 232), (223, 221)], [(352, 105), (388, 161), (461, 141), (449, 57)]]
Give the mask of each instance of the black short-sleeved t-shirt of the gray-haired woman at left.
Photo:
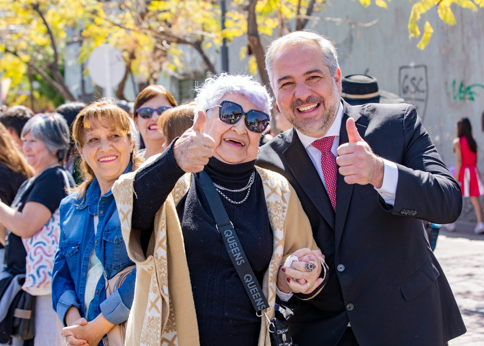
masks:
[[(74, 179), (71, 173), (62, 167), (46, 169), (39, 176), (25, 181), (12, 203), (12, 207), (18, 207), (22, 211), (27, 202), (37, 202), (45, 205), (51, 213), (54, 213), (61, 204), (62, 198), (67, 194), (66, 183), (62, 171), (66, 173), (70, 186), (74, 186)], [(13, 275), (25, 273), (25, 251), (22, 239), (7, 230), (5, 237), (5, 259), (7, 270)]]

